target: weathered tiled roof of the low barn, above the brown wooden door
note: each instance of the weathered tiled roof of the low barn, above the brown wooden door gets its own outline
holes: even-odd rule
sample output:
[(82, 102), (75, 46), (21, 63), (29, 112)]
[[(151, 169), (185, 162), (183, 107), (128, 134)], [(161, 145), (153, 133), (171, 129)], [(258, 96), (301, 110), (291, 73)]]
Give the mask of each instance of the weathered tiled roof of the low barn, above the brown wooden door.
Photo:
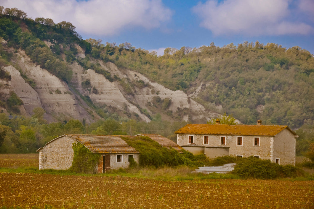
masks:
[(66, 136), (77, 140), (93, 153), (139, 153), (118, 135), (66, 134)]

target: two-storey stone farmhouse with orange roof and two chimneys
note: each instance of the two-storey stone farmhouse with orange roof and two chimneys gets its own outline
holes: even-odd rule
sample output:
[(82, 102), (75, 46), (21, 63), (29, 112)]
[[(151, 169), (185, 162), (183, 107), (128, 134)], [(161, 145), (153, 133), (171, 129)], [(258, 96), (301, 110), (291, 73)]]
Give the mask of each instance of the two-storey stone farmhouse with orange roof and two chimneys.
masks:
[(177, 144), (208, 158), (255, 156), (281, 165), (295, 165), (295, 138), (288, 126), (187, 124), (175, 132)]

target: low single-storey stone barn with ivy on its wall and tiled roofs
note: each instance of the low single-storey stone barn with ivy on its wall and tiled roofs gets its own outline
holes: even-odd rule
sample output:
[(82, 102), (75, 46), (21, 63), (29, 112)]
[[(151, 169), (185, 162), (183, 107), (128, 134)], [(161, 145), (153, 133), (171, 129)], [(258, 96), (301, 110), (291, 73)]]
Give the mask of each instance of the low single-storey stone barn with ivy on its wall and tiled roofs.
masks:
[[(149, 137), (163, 147), (172, 147), (182, 152), (182, 148), (178, 144), (159, 134), (138, 134), (137, 136), (139, 135)], [(97, 173), (104, 173), (110, 169), (127, 168), (131, 158), (139, 163), (139, 152), (129, 146), (123, 137), (135, 138), (136, 136), (66, 134), (54, 138), (37, 150), (39, 152), (39, 170), (70, 168), (73, 162), (73, 143), (81, 143), (92, 153), (101, 154), (97, 164)]]

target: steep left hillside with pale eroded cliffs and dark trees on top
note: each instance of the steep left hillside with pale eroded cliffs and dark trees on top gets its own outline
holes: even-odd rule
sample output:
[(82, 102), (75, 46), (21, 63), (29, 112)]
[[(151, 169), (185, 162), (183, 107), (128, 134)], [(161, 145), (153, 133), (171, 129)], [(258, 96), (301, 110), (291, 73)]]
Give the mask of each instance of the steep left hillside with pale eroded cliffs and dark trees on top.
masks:
[[(39, 107), (46, 111), (44, 118), (48, 121), (74, 118), (87, 124), (110, 115), (145, 122), (157, 114), (163, 120), (196, 122), (219, 115), (206, 110), (181, 90), (170, 90), (138, 72), (92, 58), (86, 47), (80, 46), (81, 42), (90, 44), (79, 41), (71, 33), (60, 40), (55, 37), (39, 40), (32, 32), (33, 27), (56, 29), (31, 25), (34, 24), (31, 20), (6, 17), (1, 20), (6, 28), (8, 25), (15, 28), (12, 38), (2, 38), (0, 46), (3, 74), (10, 75), (10, 79), (0, 80), (2, 112), (31, 116), (32, 110)], [(30, 39), (29, 43), (22, 43), (26, 38)], [(22, 101), (20, 105), (8, 103), (13, 94)]]

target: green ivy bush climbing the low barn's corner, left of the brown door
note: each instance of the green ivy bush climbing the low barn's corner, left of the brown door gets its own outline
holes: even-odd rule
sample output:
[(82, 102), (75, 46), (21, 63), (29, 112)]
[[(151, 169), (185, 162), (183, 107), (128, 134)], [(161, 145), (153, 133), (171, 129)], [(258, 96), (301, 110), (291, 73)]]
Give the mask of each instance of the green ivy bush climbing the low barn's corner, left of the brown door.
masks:
[(73, 162), (69, 168), (76, 173), (96, 173), (100, 154), (94, 154), (81, 143), (73, 143)]

